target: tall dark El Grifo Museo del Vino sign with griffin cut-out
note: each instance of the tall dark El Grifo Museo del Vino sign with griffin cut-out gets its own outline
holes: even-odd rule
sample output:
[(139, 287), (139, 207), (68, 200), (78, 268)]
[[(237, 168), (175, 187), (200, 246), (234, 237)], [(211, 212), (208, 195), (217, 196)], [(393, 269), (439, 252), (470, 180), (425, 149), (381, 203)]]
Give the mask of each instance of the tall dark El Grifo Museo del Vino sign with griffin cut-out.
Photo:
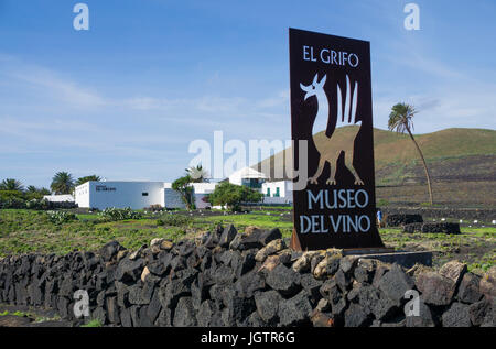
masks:
[(376, 227), (369, 43), (290, 29), (290, 80), (298, 176), (292, 248), (384, 247)]

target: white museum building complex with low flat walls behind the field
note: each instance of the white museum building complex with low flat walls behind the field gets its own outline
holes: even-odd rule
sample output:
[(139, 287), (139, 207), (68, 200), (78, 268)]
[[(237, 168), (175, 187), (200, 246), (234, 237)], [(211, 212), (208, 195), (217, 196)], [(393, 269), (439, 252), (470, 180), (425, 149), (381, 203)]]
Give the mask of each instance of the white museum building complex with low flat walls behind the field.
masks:
[[(260, 190), (266, 204), (291, 204), (292, 183), (266, 182), (267, 176), (250, 167), (235, 172), (229, 183)], [(211, 206), (206, 196), (214, 192), (217, 183), (192, 183), (196, 208)], [(184, 208), (181, 195), (166, 182), (86, 182), (75, 188), (75, 201), (79, 207), (105, 209), (108, 207), (142, 209), (151, 205), (165, 208)]]

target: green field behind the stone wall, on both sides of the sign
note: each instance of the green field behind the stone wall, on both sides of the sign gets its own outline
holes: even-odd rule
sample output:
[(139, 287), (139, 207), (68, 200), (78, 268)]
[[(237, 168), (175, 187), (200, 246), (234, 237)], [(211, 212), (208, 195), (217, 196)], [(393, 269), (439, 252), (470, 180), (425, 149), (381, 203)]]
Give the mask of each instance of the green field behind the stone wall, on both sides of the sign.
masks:
[[(187, 211), (137, 212), (133, 219), (108, 220), (98, 212), (74, 214), (60, 210), (54, 220), (48, 212), (26, 209), (0, 210), (0, 258), (21, 253), (65, 254), (73, 250), (97, 251), (105, 243), (117, 240), (123, 247), (136, 250), (154, 238), (177, 241), (194, 238), (212, 230), (218, 223), (228, 223), (242, 231), (256, 226), (262, 229), (279, 228), (284, 238), (291, 236), (293, 225), (291, 208), (254, 207), (250, 212), (217, 212), (216, 215)], [(215, 211), (214, 211), (215, 212)], [(496, 265), (496, 227), (462, 227), (461, 235), (402, 233), (401, 229), (380, 229), (387, 247), (398, 250), (436, 251), (434, 264), (452, 259), (468, 264), (471, 271), (482, 273)]]

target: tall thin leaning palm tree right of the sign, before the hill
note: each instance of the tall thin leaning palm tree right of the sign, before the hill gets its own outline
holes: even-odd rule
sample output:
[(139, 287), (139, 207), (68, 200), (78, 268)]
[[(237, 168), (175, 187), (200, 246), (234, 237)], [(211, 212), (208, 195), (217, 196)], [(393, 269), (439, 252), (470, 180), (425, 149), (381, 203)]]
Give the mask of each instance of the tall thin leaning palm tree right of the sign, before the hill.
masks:
[(429, 198), (432, 205), (433, 198), (432, 198), (431, 176), (429, 175), (429, 170), (425, 163), (425, 159), (423, 157), (422, 151), (420, 150), (419, 144), (417, 144), (417, 141), (413, 138), (413, 134), (411, 133), (411, 130), (413, 129), (412, 119), (416, 116), (416, 113), (417, 110), (413, 108), (413, 106), (407, 103), (397, 103), (396, 106), (392, 107), (391, 113), (389, 114), (388, 128), (390, 131), (396, 131), (398, 133), (407, 132), (408, 135), (410, 135), (410, 139), (416, 145), (420, 159), (422, 160), (423, 170), (425, 171), (425, 177), (428, 181)]

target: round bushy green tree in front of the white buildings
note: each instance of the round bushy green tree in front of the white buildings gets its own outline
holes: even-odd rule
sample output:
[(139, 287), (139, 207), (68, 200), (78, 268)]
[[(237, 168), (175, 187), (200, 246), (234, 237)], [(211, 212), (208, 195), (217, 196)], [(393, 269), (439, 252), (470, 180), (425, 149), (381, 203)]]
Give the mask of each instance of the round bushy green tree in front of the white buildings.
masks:
[(241, 203), (258, 203), (263, 195), (244, 185), (220, 183), (215, 187), (214, 193), (208, 195), (212, 205), (226, 205), (233, 211), (239, 210)]

